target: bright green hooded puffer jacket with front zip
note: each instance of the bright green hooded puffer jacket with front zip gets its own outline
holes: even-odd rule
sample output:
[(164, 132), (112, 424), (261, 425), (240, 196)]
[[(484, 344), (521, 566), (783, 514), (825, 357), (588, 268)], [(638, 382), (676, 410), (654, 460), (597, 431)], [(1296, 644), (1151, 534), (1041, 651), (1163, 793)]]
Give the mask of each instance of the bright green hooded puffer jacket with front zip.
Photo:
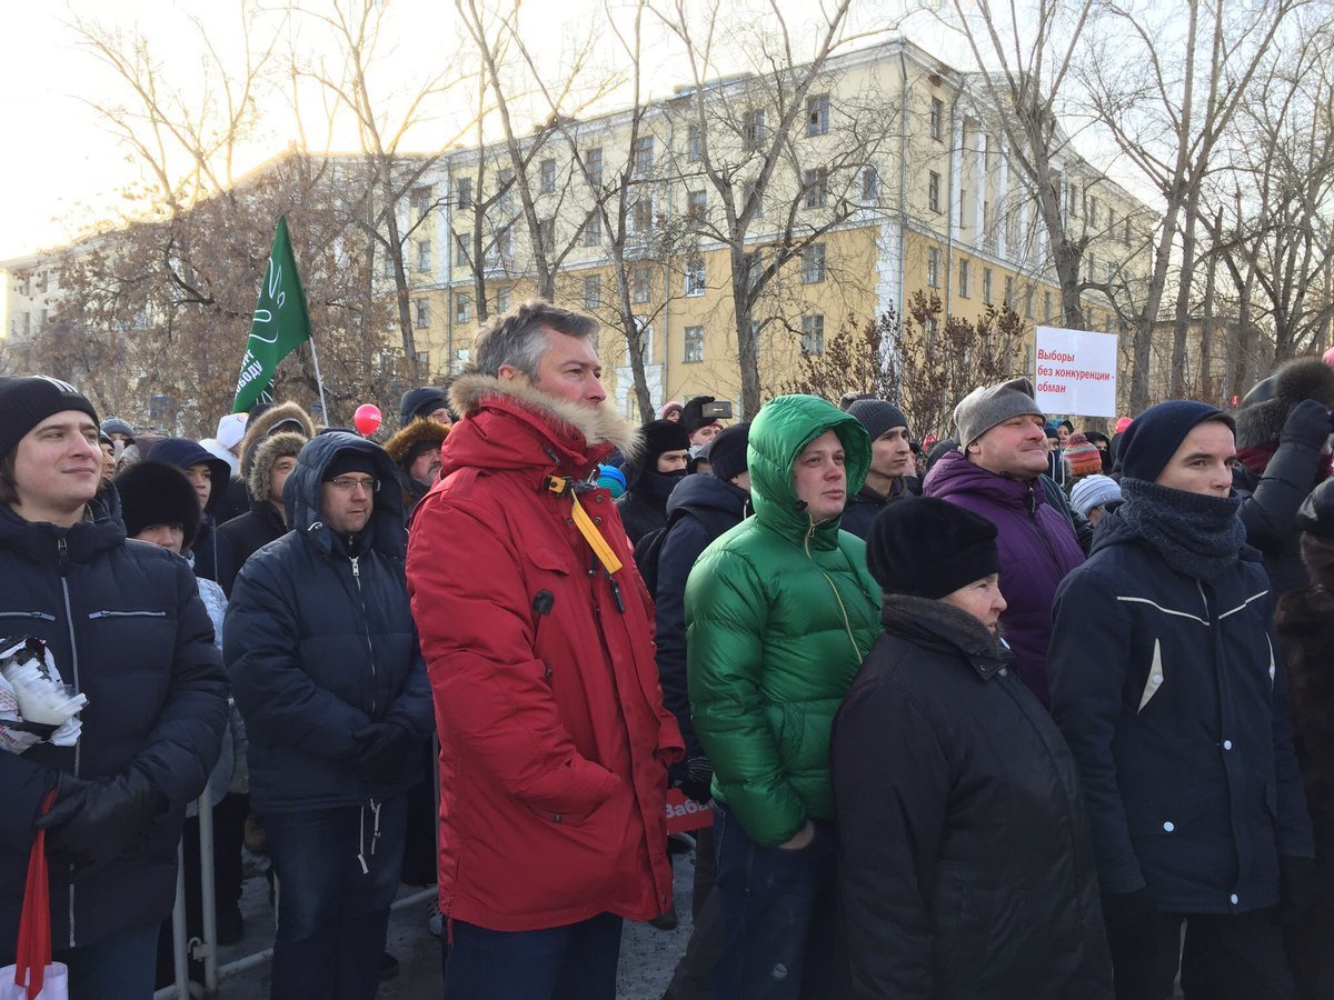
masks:
[(686, 585), (691, 717), (714, 797), (770, 847), (834, 819), (830, 727), (880, 633), (866, 544), (838, 517), (812, 523), (792, 489), (796, 456), (826, 431), (843, 445), (847, 495), (862, 488), (862, 424), (814, 396), (779, 396), (751, 425), (755, 516), (704, 549)]

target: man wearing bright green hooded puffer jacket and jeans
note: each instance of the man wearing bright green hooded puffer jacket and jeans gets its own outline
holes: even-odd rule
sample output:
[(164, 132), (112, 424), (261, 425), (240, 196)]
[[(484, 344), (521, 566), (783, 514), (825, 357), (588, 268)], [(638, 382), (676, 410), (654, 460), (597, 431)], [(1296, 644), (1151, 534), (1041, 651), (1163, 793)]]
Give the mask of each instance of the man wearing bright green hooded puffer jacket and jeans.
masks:
[(842, 992), (830, 727), (879, 632), (880, 591), (839, 517), (870, 463), (855, 417), (772, 400), (747, 448), (755, 516), (686, 585), (691, 716), (714, 763), (715, 997)]

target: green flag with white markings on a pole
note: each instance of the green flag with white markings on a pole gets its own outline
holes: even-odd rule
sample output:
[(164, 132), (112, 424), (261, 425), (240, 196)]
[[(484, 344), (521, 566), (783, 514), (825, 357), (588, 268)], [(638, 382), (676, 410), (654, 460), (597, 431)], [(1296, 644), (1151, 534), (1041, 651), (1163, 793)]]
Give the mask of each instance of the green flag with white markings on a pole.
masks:
[(244, 412), (260, 400), (271, 401), (268, 391), (273, 384), (277, 363), (309, 339), (311, 316), (305, 311), (305, 292), (296, 273), (292, 239), (287, 235), (287, 216), (280, 216), (277, 232), (273, 233), (273, 249), (268, 253), (268, 271), (255, 304), (251, 333), (245, 340), (232, 412)]

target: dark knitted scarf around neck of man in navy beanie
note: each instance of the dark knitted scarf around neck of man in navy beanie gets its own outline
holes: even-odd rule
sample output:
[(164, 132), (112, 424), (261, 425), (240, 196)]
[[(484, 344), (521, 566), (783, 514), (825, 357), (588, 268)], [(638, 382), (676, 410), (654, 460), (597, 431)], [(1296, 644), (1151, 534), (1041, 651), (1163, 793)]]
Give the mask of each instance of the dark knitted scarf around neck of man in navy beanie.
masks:
[(1121, 493), (1126, 501), (1117, 517), (1178, 573), (1213, 580), (1237, 564), (1246, 544), (1246, 525), (1237, 516), (1241, 497), (1190, 493), (1142, 479), (1122, 479)]

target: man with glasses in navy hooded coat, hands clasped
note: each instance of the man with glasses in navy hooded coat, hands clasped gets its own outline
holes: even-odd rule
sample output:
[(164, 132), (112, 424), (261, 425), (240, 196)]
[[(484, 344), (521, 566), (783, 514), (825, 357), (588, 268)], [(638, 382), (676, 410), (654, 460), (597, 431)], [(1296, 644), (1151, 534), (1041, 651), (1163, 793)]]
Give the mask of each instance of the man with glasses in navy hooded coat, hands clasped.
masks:
[(279, 881), (273, 997), (370, 1000), (379, 984), (432, 724), (395, 483), (379, 445), (311, 440), (283, 487), (293, 531), (247, 560), (227, 608), (251, 805)]

